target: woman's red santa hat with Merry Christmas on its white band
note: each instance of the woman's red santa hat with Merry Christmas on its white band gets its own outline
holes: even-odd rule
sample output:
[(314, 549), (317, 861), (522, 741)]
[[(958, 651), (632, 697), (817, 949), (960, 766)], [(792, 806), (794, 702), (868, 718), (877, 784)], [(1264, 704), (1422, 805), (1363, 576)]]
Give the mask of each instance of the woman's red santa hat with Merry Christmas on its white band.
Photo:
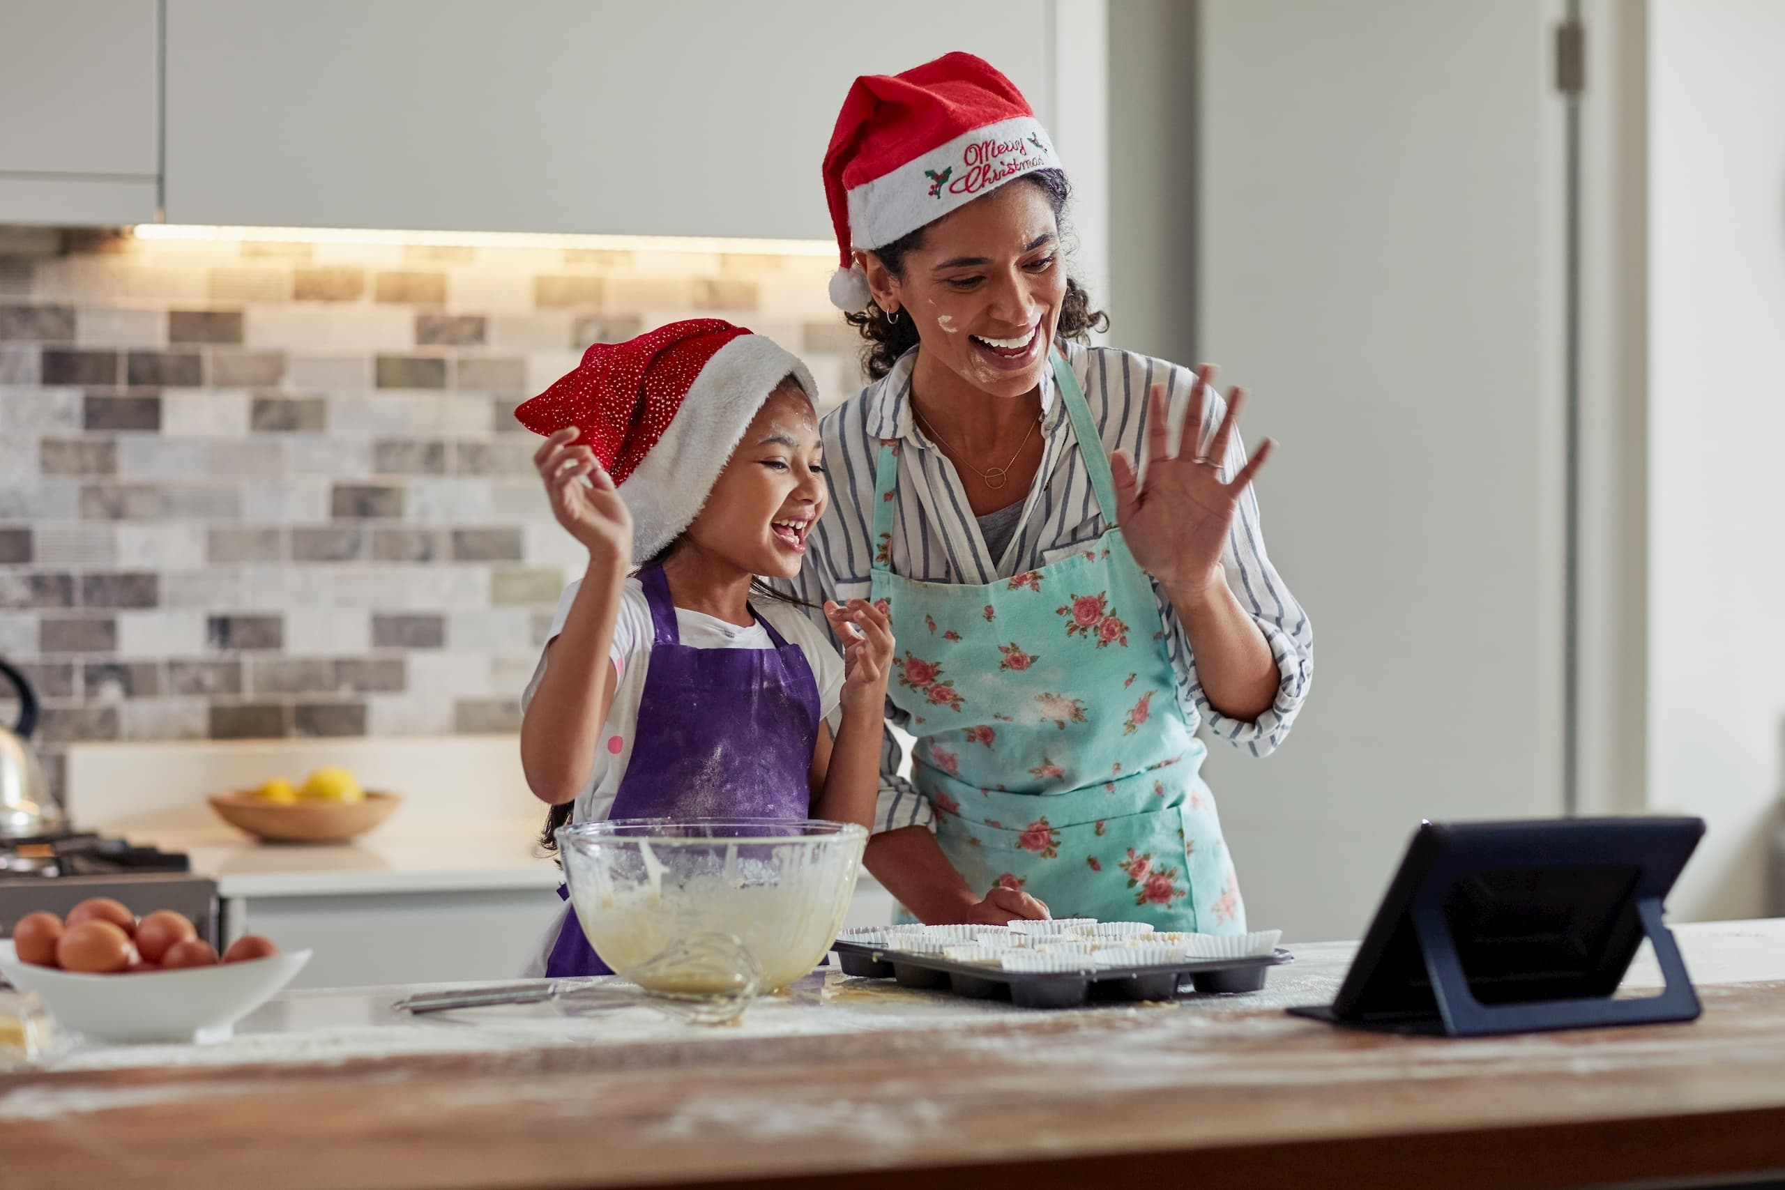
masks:
[(944, 54), (901, 75), (862, 75), (825, 150), (825, 200), (843, 257), (830, 302), (868, 309), (855, 250), (891, 244), (1005, 182), (1059, 168), (1028, 100), (985, 59)]

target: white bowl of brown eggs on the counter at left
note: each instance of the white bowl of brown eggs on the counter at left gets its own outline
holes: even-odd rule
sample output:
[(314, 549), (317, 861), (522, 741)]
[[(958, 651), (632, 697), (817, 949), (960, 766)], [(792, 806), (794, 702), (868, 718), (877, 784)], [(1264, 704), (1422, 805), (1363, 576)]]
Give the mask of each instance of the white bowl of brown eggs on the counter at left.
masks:
[(68, 921), (27, 913), (0, 940), (0, 974), (95, 1042), (223, 1040), (309, 960), (309, 951), (282, 954), (255, 935), (220, 960), (178, 913), (137, 921), (105, 897), (77, 905)]

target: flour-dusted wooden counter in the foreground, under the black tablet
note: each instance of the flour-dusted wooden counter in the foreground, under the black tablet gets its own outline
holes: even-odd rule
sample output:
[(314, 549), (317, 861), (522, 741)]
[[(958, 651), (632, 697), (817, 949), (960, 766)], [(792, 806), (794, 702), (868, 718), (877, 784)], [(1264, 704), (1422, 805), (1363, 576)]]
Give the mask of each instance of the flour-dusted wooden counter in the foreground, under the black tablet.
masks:
[[(0, 1076), (7, 1186), (1442, 1185), (1785, 1170), (1785, 922), (1678, 928), (1694, 1024), (1485, 1040), (1289, 1017), (1353, 947), (1257, 996), (1025, 1012), (818, 972), (739, 1028), (646, 1008), (403, 1019), (296, 992), (216, 1047)], [(1626, 983), (1653, 985), (1651, 965)]]

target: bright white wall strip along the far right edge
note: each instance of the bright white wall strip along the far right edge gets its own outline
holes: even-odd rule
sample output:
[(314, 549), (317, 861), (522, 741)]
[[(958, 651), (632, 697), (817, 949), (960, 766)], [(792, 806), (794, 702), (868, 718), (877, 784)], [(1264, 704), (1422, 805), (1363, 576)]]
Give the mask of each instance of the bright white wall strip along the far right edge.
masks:
[(1649, 805), (1762, 910), (1785, 787), (1785, 4), (1649, 0)]

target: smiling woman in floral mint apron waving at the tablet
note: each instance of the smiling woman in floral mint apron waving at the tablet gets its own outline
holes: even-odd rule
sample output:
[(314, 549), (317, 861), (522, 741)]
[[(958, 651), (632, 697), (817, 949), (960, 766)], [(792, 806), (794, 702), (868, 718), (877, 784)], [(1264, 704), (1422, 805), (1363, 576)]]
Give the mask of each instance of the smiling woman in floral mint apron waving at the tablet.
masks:
[(1083, 346), (1066, 177), (987, 62), (857, 79), (825, 184), (875, 382), (825, 417), (791, 589), (871, 598), (900, 642), (916, 790), (889, 739), (869, 871), (926, 922), (1244, 931), (1194, 730), (1262, 756), (1308, 690), (1250, 491), (1271, 442), (1246, 460), (1212, 368)]

